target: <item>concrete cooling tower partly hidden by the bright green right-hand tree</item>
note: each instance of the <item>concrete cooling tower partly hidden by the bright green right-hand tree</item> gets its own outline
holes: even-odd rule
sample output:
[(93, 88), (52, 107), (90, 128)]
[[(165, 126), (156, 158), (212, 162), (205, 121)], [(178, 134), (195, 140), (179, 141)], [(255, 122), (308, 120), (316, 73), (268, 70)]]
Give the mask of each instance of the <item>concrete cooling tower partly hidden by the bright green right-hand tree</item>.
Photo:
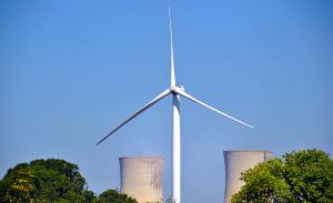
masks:
[(224, 203), (230, 203), (233, 194), (238, 193), (242, 185), (241, 173), (253, 168), (260, 162), (272, 158), (268, 151), (224, 151), (225, 165), (225, 193)]

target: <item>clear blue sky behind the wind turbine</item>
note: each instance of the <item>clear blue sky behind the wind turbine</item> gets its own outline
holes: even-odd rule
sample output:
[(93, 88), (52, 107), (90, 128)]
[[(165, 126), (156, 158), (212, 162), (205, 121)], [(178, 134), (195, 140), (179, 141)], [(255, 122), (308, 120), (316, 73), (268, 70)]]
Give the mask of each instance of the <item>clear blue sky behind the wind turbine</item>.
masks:
[[(218, 203), (224, 150), (333, 154), (333, 2), (172, 1), (182, 100), (182, 196)], [(164, 0), (0, 2), (0, 175), (19, 162), (77, 163), (95, 192), (119, 186), (118, 158), (163, 155), (171, 195), (171, 98), (100, 146), (169, 85)]]

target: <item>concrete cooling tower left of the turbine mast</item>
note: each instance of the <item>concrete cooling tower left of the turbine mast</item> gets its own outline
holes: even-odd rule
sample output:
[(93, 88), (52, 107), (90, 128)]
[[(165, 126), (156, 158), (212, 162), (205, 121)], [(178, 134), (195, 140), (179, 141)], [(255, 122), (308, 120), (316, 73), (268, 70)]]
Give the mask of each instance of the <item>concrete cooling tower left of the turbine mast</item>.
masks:
[(139, 203), (163, 199), (163, 165), (160, 156), (120, 158), (120, 190)]

